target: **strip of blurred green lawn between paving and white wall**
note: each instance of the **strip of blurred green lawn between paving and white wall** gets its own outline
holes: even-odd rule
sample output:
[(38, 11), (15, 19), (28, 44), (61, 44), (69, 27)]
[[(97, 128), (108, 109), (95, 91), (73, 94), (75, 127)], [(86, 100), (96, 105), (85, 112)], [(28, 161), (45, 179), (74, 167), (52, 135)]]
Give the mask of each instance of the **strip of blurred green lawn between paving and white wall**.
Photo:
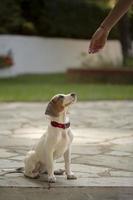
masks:
[(23, 75), (0, 79), (0, 101), (48, 101), (57, 93), (76, 92), (80, 101), (131, 100), (133, 85), (69, 83), (65, 74)]

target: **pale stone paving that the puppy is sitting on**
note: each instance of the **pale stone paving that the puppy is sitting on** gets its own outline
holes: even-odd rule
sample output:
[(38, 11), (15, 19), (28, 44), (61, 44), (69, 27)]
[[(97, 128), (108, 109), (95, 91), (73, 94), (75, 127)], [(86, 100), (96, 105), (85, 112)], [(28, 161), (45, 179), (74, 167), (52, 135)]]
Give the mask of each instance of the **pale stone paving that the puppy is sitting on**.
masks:
[[(77, 180), (31, 180), (12, 172), (44, 133), (42, 103), (0, 104), (0, 200), (133, 199), (133, 102), (77, 103), (71, 110), (75, 139), (72, 169)], [(56, 168), (63, 166), (59, 159)], [(64, 196), (64, 192), (67, 194)]]

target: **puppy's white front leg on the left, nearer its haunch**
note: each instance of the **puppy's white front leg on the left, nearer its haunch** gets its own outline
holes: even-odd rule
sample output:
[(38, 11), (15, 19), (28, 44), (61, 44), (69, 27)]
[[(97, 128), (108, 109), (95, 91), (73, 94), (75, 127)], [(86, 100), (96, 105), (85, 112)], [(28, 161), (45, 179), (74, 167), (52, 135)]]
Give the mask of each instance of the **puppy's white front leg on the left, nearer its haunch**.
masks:
[(53, 152), (47, 154), (47, 172), (48, 172), (48, 182), (55, 183), (56, 177), (54, 176), (54, 161)]

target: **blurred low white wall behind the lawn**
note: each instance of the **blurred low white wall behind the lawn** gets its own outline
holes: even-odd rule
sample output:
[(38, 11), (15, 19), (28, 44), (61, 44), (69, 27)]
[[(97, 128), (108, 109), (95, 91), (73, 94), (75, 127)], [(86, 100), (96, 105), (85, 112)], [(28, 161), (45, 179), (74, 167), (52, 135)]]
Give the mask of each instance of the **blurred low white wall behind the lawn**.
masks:
[[(67, 68), (82, 65), (81, 54), (88, 50), (88, 40), (51, 39), (28, 36), (0, 36), (0, 54), (12, 49), (14, 66), (1, 69), (0, 77), (25, 73), (64, 72)], [(121, 47), (117, 41), (109, 41), (103, 57), (116, 65), (122, 61)], [(96, 55), (88, 55), (93, 62)]]

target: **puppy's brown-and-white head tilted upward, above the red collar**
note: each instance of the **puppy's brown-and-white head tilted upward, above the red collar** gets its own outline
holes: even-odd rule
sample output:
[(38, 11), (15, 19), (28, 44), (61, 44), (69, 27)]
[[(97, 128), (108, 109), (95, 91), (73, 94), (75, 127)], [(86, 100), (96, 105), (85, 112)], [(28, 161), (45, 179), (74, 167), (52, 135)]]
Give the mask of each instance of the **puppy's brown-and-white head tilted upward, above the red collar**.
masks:
[(72, 103), (74, 103), (77, 99), (75, 93), (70, 94), (57, 94), (47, 105), (45, 114), (51, 117), (59, 117), (59, 115), (65, 112)]

